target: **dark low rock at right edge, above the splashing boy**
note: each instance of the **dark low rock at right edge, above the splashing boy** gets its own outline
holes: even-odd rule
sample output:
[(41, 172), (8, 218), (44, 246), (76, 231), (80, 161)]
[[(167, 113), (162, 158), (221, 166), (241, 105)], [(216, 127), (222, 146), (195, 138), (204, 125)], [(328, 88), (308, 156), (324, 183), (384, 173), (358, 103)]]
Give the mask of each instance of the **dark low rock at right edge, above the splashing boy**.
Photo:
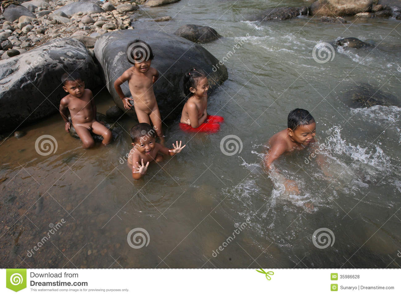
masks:
[(342, 101), (351, 108), (369, 108), (376, 105), (400, 106), (400, 100), (370, 84), (361, 83), (344, 92)]

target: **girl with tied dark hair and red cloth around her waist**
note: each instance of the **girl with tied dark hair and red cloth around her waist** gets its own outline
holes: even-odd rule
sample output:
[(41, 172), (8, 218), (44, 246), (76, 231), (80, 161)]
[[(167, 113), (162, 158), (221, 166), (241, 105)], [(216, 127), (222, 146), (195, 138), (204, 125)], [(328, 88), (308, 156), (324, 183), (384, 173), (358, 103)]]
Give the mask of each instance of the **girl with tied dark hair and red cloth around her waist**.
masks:
[(216, 133), (224, 118), (207, 114), (209, 84), (202, 70), (192, 68), (184, 76), (184, 94), (189, 98), (182, 108), (180, 128), (187, 132)]

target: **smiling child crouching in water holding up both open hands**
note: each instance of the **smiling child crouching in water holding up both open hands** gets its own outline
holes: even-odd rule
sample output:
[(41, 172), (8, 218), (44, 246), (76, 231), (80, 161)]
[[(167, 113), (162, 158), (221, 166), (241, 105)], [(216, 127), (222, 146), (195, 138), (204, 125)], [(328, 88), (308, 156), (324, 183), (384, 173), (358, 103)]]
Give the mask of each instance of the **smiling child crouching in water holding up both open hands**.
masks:
[(176, 145), (173, 144), (174, 149), (168, 149), (156, 143), (156, 131), (145, 122), (139, 123), (131, 129), (130, 134), (134, 148), (131, 149), (128, 156), (128, 166), (132, 169), (132, 178), (135, 180), (139, 180), (146, 173), (150, 162), (162, 161), (163, 156), (158, 152), (173, 156), (180, 153), (186, 146), (181, 147), (181, 141), (179, 145), (178, 141), (176, 141)]

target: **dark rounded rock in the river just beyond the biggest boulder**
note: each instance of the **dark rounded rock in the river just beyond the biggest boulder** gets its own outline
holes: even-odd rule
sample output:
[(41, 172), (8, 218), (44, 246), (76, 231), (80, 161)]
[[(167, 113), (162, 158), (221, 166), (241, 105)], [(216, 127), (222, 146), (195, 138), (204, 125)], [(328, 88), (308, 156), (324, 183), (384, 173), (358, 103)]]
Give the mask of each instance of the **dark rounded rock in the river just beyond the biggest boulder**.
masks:
[(217, 40), (221, 37), (215, 29), (197, 24), (185, 24), (174, 32), (175, 35), (183, 37), (193, 42), (206, 43)]

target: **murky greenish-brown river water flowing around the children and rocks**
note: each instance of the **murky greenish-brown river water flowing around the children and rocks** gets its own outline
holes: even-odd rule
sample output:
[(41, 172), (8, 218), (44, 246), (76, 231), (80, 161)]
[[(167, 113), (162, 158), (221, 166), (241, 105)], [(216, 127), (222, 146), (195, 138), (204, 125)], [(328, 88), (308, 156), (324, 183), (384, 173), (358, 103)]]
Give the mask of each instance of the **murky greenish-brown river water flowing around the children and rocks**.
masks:
[[(2, 267), (399, 267), (401, 108), (351, 109), (344, 92), (367, 83), (399, 98), (400, 22), (248, 21), (265, 8), (309, 3), (181, 0), (135, 12), (136, 29), (174, 33), (202, 24), (223, 36), (203, 45), (225, 57), (229, 72), (208, 104), (210, 114), (225, 117), (221, 131), (185, 134), (178, 121), (166, 127), (167, 145), (182, 140), (186, 147), (150, 165), (140, 181), (124, 162), (126, 131), (136, 123), (128, 117), (109, 147), (83, 150), (59, 114), (2, 141)], [(167, 15), (170, 22), (148, 21)], [(375, 47), (314, 60), (315, 45), (345, 37)], [(98, 112), (113, 106), (105, 91), (96, 99)], [(286, 128), (294, 108), (312, 113), (325, 143), (324, 168), (312, 148), (276, 163), (300, 195), (286, 194), (261, 166), (267, 140)], [(55, 153), (38, 155), (41, 135), (53, 135)], [(133, 248), (127, 236), (135, 233), (143, 237), (130, 241)]]

